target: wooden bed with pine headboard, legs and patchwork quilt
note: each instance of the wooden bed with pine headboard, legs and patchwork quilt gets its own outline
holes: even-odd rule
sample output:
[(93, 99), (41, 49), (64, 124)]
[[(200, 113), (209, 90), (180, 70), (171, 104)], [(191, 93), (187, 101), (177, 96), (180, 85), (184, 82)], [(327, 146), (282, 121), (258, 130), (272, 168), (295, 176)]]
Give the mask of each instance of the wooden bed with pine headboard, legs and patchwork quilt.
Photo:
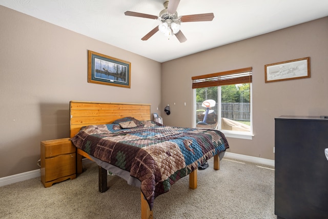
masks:
[(99, 191), (107, 188), (107, 171), (140, 187), (141, 218), (153, 217), (153, 202), (189, 175), (197, 188), (197, 168), (214, 157), (214, 169), (229, 148), (218, 130), (165, 126), (151, 121), (150, 104), (70, 102), (70, 137), (82, 157), (99, 166)]

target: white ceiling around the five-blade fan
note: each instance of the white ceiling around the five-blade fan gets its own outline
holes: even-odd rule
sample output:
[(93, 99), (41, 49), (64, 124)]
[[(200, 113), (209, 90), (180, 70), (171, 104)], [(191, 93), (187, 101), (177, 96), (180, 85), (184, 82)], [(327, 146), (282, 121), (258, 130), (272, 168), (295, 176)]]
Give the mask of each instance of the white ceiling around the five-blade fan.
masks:
[(176, 37), (168, 39), (159, 31), (148, 41), (141, 41), (159, 21), (126, 16), (124, 12), (158, 16), (163, 2), (0, 0), (0, 5), (161, 63), (328, 16), (328, 0), (181, 0), (179, 16), (213, 12), (213, 21), (181, 23), (185, 43)]

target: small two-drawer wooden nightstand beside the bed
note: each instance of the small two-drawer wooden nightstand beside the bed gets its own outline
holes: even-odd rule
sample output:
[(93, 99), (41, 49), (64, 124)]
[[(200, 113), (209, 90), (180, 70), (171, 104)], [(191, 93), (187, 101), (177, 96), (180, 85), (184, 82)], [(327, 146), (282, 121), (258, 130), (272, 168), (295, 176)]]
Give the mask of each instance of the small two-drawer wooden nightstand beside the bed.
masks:
[(75, 151), (70, 138), (41, 142), (41, 182), (45, 187), (76, 177)]

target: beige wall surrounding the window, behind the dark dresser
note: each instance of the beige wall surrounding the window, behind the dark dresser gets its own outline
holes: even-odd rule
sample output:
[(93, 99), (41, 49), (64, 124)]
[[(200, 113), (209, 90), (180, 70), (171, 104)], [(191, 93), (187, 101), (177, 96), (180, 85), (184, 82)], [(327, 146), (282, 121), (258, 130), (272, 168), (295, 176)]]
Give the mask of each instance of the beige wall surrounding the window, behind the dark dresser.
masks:
[[(228, 151), (274, 160), (275, 117), (328, 114), (327, 39), (325, 17), (162, 63), (162, 106), (171, 109), (170, 115), (163, 114), (164, 123), (192, 126), (192, 76), (253, 67), (255, 136), (228, 138)], [(264, 83), (264, 65), (308, 56), (311, 78)]]

